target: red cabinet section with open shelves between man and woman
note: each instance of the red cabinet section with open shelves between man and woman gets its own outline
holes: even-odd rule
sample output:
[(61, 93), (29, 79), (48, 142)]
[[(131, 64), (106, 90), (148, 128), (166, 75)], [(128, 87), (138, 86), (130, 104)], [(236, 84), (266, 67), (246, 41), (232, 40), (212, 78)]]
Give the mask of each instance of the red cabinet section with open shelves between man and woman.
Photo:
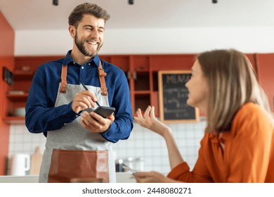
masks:
[(132, 112), (138, 108), (145, 110), (155, 106), (155, 115), (159, 116), (158, 75), (159, 70), (190, 70), (195, 55), (128, 55), (100, 56), (124, 70), (129, 81)]

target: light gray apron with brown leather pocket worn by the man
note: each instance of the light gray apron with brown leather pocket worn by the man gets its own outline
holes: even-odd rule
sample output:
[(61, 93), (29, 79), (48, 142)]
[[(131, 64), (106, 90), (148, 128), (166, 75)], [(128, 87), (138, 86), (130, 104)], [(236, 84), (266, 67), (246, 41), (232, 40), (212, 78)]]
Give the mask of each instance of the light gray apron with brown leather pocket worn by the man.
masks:
[[(86, 87), (99, 98), (101, 106), (109, 106), (107, 95), (102, 95), (102, 88)], [(56, 107), (70, 103), (84, 87), (65, 84), (65, 93), (60, 93), (61, 89), (62, 84), (58, 89)], [(100, 134), (84, 129), (80, 118), (47, 133), (39, 182), (70, 182), (74, 178), (94, 177), (103, 179), (103, 182), (116, 182), (112, 144)]]

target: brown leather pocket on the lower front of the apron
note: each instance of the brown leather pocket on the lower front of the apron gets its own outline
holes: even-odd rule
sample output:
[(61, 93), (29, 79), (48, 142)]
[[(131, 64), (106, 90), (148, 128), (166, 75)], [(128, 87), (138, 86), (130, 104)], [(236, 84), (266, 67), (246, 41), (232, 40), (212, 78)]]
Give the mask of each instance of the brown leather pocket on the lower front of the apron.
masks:
[(98, 178), (109, 182), (107, 151), (53, 149), (48, 182), (69, 183), (75, 178)]

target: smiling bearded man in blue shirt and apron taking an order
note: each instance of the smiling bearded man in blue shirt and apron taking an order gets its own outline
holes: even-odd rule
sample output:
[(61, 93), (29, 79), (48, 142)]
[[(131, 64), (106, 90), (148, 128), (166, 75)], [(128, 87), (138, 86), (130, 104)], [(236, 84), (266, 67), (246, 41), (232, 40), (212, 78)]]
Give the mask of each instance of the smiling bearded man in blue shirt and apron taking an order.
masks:
[[(46, 136), (39, 182), (116, 182), (112, 143), (129, 138), (133, 117), (124, 72), (98, 56), (109, 18), (96, 4), (75, 7), (68, 27), (72, 50), (35, 72), (25, 122), (30, 132)], [(115, 114), (94, 113), (97, 103), (112, 106)]]

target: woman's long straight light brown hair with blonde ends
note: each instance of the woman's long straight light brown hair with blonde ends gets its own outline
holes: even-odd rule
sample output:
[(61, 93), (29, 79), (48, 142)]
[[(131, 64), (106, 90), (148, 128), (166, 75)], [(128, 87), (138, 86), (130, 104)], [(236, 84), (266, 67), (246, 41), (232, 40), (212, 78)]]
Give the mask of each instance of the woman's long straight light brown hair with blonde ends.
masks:
[(237, 110), (247, 102), (270, 107), (247, 56), (240, 51), (214, 50), (197, 56), (209, 84), (207, 132), (230, 130)]

